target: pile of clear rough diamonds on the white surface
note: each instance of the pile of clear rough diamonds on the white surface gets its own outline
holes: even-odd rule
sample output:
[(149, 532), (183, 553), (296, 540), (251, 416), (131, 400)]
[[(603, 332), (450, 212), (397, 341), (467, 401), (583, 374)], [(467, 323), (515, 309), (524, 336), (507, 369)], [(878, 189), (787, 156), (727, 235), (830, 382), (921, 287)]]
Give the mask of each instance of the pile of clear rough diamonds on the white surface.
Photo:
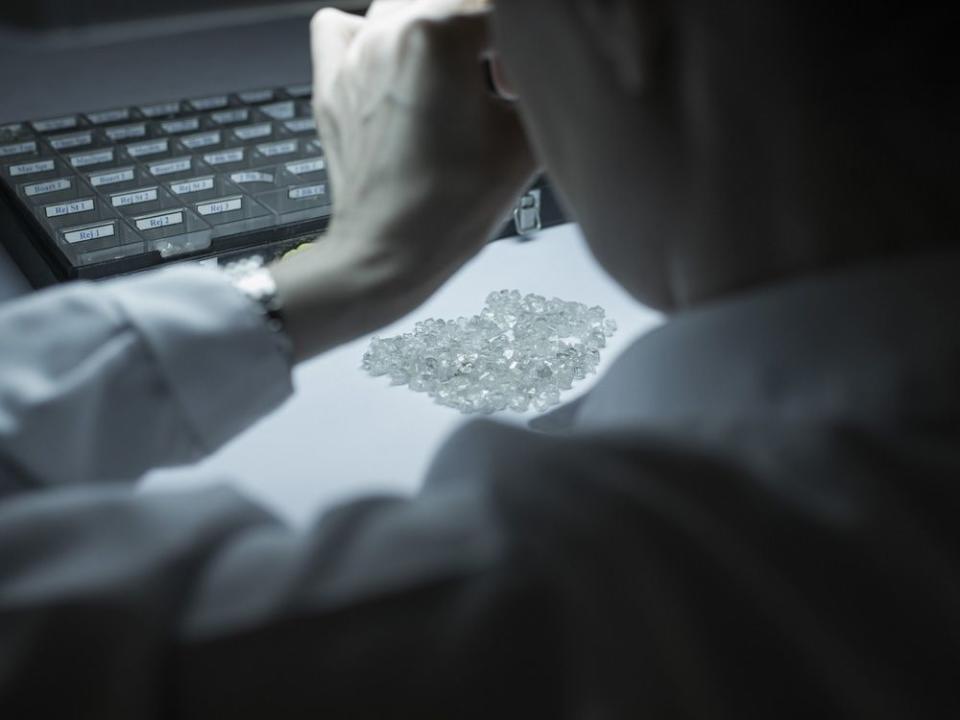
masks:
[(617, 330), (601, 307), (501, 290), (479, 315), (374, 338), (363, 369), (463, 413), (542, 412), (588, 373)]

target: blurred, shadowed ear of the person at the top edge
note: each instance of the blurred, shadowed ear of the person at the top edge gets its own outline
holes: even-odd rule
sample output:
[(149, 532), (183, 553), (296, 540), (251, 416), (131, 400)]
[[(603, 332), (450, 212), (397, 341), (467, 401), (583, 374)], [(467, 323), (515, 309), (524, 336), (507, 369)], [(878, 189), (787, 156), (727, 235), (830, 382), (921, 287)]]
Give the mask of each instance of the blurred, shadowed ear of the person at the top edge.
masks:
[(630, 95), (657, 81), (666, 43), (665, 0), (573, 0), (584, 30)]

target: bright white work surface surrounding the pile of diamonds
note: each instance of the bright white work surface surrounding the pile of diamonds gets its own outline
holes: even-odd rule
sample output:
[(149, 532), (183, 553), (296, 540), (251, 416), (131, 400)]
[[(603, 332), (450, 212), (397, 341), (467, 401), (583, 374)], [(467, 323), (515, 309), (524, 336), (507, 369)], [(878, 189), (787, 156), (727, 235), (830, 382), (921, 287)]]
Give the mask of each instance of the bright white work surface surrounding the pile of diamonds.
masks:
[[(423, 307), (377, 334), (407, 332), (428, 317), (473, 315), (489, 292), (503, 288), (606, 309), (620, 330), (603, 353), (601, 373), (659, 323), (656, 313), (637, 304), (597, 265), (579, 231), (565, 226), (533, 242), (491, 245)], [(362, 372), (360, 358), (368, 343), (363, 338), (299, 368), (296, 395), (278, 412), (196, 466), (153, 473), (147, 489), (229, 481), (298, 523), (357, 495), (416, 491), (433, 454), (469, 418)], [(564, 401), (596, 379), (578, 384)], [(494, 417), (526, 423), (534, 413)]]

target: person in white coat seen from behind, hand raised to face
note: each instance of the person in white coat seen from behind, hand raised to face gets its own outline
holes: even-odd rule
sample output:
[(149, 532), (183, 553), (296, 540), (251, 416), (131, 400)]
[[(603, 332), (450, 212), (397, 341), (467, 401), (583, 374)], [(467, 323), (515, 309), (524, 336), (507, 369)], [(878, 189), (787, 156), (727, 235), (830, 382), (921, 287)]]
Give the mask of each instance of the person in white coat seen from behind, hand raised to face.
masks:
[[(957, 717), (939, 5), (317, 15), (322, 241), (253, 298), (180, 267), (0, 313), (0, 715)], [(415, 308), (538, 164), (669, 315), (586, 398), (471, 424), (416, 497), (309, 531), (229, 489), (135, 491)]]

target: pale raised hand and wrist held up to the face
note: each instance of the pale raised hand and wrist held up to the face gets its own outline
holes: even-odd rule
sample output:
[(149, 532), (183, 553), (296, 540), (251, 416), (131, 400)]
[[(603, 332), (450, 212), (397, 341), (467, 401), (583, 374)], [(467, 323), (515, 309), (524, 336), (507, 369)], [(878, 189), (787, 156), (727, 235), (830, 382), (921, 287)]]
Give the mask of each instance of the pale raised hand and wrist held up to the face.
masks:
[(333, 217), (314, 249), (273, 268), (301, 357), (413, 309), (485, 244), (531, 179), (520, 120), (484, 71), (489, 13), (478, 0), (379, 0), (366, 18), (315, 16)]

